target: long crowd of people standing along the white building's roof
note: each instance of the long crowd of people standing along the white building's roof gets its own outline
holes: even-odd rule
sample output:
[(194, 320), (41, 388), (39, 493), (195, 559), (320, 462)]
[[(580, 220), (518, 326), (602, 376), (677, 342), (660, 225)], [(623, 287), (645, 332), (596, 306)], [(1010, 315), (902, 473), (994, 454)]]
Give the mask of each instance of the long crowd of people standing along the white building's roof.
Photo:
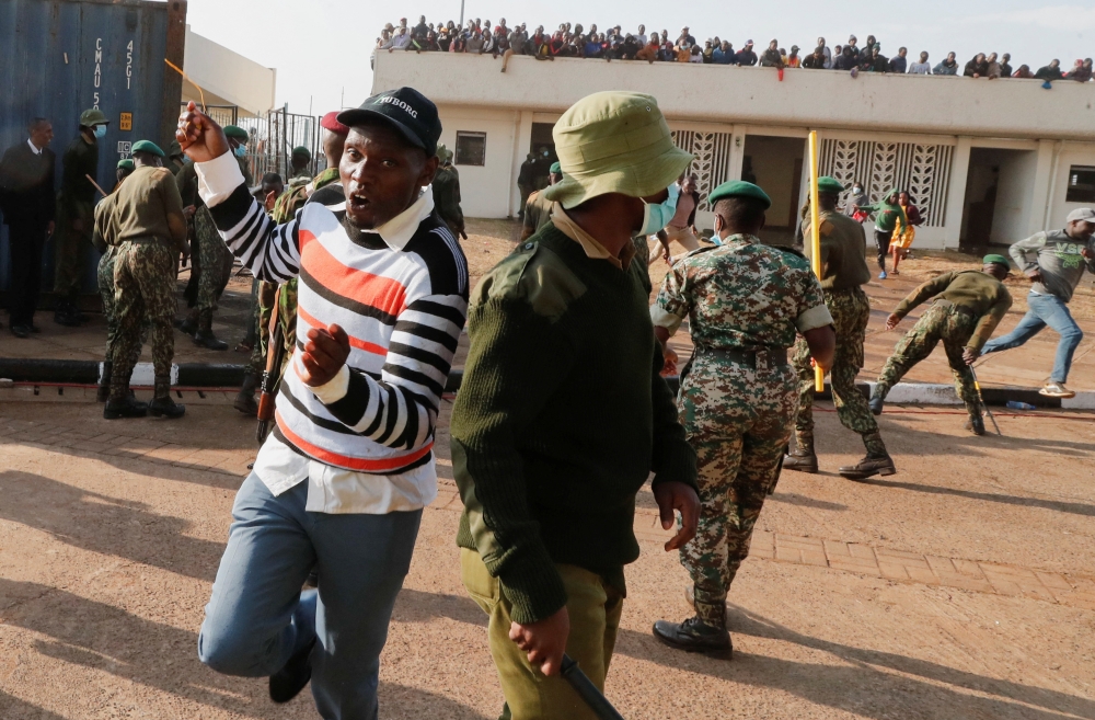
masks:
[[(810, 46), (807, 45), (807, 48)], [(851, 72), (890, 72), (909, 75), (964, 76), (967, 78), (1027, 78), (1052, 82), (1053, 80), (1092, 80), (1092, 58), (1077, 59), (1072, 68), (1061, 69), (1061, 61), (1051, 60), (1036, 71), (1030, 66), (1017, 68), (1011, 64), (1008, 53), (978, 53), (961, 65), (954, 53), (935, 64), (930, 62), (927, 53), (919, 53), (915, 61), (909, 58), (909, 49), (899, 47), (897, 54), (887, 57), (881, 44), (874, 35), (867, 35), (861, 46), (852, 35), (844, 45), (830, 48), (825, 37), (817, 38), (814, 49), (803, 50), (792, 45), (788, 53), (773, 39), (759, 55), (753, 42), (748, 39), (740, 49), (718, 36), (708, 37), (700, 44), (689, 26), (681, 27), (680, 34), (671, 35), (668, 30), (647, 33), (646, 25), (639, 25), (634, 33), (626, 33), (615, 25), (598, 31), (597, 25), (588, 30), (580, 23), (563, 23), (548, 32), (538, 25), (529, 32), (521, 23), (510, 27), (503, 18), (492, 25), (489, 20), (475, 18), (464, 26), (453, 21), (427, 23), (420, 15), (418, 23), (408, 25), (406, 18), (399, 24), (389, 23), (377, 38), (378, 50), (414, 50), (416, 53), (472, 53), (493, 55), (529, 55), (542, 60), (556, 57), (598, 58), (604, 60), (646, 60), (647, 62), (695, 62), (702, 65), (740, 65), (770, 68), (807, 68), (811, 70), (846, 70)], [(505, 69), (505, 66), (503, 67)]]

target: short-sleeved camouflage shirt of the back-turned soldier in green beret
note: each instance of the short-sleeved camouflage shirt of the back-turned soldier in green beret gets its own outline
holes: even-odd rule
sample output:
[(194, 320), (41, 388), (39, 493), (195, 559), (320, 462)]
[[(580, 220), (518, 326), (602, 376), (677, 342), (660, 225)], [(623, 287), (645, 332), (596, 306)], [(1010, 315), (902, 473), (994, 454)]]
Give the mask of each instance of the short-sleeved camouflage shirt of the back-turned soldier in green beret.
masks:
[(689, 318), (696, 347), (740, 351), (786, 350), (797, 333), (832, 324), (809, 263), (749, 235), (677, 261), (650, 317), (670, 334)]

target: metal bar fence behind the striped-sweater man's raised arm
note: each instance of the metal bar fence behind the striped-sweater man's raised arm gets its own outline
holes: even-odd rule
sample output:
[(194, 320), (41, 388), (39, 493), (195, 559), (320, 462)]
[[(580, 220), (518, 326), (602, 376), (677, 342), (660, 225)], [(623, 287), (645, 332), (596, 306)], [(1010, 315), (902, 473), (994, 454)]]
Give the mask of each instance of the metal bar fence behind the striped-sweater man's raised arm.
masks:
[[(183, 106), (185, 107), (185, 103)], [(206, 112), (220, 125), (239, 125), (247, 130), (251, 136), (247, 142), (247, 161), (256, 183), (268, 172), (276, 172), (288, 181), (292, 174), (292, 149), (297, 147), (308, 148), (312, 153), (312, 160), (307, 167), (310, 176), (318, 175), (327, 167), (319, 117), (298, 115), (285, 108), (272, 110), (265, 115), (241, 117), (240, 108), (235, 105), (208, 105)]]

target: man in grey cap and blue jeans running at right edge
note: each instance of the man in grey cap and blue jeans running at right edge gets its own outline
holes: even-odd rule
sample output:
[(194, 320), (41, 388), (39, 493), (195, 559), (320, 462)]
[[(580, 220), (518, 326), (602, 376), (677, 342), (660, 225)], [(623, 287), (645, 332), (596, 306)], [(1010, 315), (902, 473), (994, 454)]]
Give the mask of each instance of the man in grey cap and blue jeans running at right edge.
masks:
[(1039, 232), (1007, 249), (1015, 264), (1034, 283), (1027, 295), (1029, 310), (1015, 330), (989, 341), (981, 350), (982, 355), (1011, 350), (1037, 335), (1046, 325), (1056, 330), (1061, 339), (1057, 343), (1053, 374), (1039, 390), (1050, 398), (1072, 398), (1076, 395), (1064, 387), (1064, 382), (1069, 379), (1072, 356), (1084, 333), (1072, 319), (1068, 304), (1084, 268), (1095, 273), (1093, 232), (1095, 209), (1081, 207), (1069, 213), (1063, 230)]

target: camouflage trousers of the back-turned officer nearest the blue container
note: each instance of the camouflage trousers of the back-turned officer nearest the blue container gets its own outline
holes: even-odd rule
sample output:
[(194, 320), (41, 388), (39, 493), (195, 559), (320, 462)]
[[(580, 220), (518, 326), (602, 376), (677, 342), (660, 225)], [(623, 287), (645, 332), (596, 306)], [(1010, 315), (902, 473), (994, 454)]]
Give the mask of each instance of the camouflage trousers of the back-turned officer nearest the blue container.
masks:
[(171, 375), (175, 335), (175, 250), (164, 240), (141, 238), (118, 248), (114, 262), (114, 377), (128, 382), (140, 354), (141, 324), (151, 325), (152, 365), (157, 377)]

